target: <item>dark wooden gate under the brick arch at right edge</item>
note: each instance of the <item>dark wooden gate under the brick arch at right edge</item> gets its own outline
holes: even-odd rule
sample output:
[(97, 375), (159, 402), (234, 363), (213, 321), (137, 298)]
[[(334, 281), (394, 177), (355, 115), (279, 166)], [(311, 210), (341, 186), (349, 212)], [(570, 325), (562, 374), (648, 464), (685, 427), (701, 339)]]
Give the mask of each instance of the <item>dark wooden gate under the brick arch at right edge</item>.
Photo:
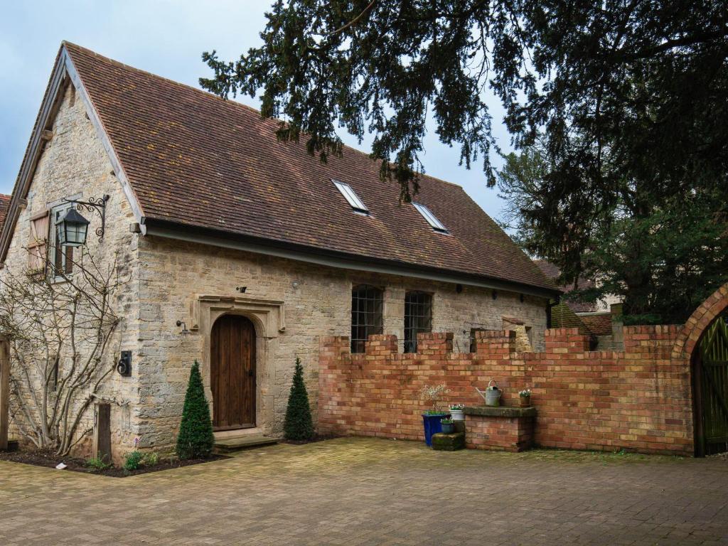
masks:
[(728, 313), (708, 326), (693, 356), (695, 455), (728, 451)]

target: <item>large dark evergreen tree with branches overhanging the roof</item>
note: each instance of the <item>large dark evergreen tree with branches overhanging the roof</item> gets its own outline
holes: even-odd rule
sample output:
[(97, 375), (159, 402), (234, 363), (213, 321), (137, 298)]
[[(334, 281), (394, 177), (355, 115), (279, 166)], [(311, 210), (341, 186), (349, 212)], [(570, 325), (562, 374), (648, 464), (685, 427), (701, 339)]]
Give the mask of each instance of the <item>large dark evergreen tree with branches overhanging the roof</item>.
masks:
[(239, 60), (203, 54), (203, 87), (262, 91), (263, 115), (285, 119), (279, 137), (305, 132), (323, 161), (341, 153), (337, 127), (373, 132), (381, 175), (405, 200), (428, 116), (496, 183), (496, 95), (516, 150), (542, 135), (547, 173), (521, 215), (539, 234), (531, 250), (566, 281), (615, 211), (645, 226), (654, 203), (701, 194), (703, 212), (724, 213), (708, 197), (728, 194), (724, 1), (278, 0), (267, 17), (263, 45)]

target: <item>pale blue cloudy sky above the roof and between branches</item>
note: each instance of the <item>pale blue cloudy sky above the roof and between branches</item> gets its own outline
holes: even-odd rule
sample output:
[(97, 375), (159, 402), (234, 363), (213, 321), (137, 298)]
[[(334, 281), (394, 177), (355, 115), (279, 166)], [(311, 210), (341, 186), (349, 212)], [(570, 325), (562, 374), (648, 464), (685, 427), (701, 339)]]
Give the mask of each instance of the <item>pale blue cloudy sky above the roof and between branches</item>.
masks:
[[(0, 193), (9, 194), (23, 159), (61, 40), (95, 50), (143, 70), (199, 87), (210, 71), (200, 60), (206, 50), (237, 58), (260, 43), (268, 0), (0, 0)], [(249, 97), (240, 99), (258, 107)], [(508, 142), (499, 124), (499, 142)], [(497, 120), (497, 122), (496, 122)], [(368, 151), (368, 143), (342, 134), (347, 144)], [(487, 189), (480, 165), (459, 167), (459, 151), (438, 141), (433, 130), (423, 157), (428, 174), (457, 183), (499, 218), (502, 201)], [(507, 146), (506, 146), (507, 147)]]

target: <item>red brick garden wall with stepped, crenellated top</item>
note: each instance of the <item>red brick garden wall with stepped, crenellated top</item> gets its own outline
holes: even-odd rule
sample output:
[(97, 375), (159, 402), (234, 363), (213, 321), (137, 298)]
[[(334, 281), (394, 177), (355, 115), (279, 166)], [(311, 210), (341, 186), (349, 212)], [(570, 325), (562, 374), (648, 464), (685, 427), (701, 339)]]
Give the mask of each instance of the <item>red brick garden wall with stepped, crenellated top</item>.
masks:
[(689, 358), (671, 357), (677, 326), (625, 328), (623, 352), (587, 352), (576, 328), (546, 332), (546, 350), (514, 353), (513, 332), (478, 333), (477, 352), (452, 352), (451, 333), (420, 335), (420, 352), (397, 353), (395, 336), (371, 336), (364, 355), (346, 337), (321, 339), (320, 432), (419, 440), (426, 384), (443, 400), (482, 403), (473, 387), (495, 379), (504, 405), (529, 388), (535, 442), (573, 449), (693, 453)]

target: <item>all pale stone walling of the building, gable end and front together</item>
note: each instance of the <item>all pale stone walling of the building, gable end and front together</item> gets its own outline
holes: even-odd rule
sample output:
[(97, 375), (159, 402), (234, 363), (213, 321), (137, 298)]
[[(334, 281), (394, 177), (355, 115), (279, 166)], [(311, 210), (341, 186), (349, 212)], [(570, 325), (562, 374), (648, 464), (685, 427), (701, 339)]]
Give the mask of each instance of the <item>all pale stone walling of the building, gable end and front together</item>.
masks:
[[(116, 261), (126, 280), (114, 301), (122, 322), (104, 366), (113, 366), (119, 352), (129, 350), (132, 376), (111, 373), (96, 393), (97, 400), (111, 403), (116, 462), (133, 449), (135, 438), (141, 439), (142, 448), (168, 450), (173, 446), (189, 368), (199, 360), (203, 371), (209, 371), (212, 324), (205, 323), (202, 313), (215, 306), (210, 304), (215, 298), (232, 301), (231, 312), (247, 314), (246, 309), (261, 305), (266, 312), (280, 315), (281, 321), (285, 316), (285, 328), (256, 323), (258, 425), (267, 434), (282, 430), (296, 357), (304, 363), (315, 412), (319, 339), (349, 335), (352, 285), (384, 288), (383, 331), (400, 339), (405, 292), (424, 290), (433, 295), (432, 328), (455, 331), (454, 343), (459, 349), (468, 349), (473, 329), (502, 328), (504, 317), (517, 317), (522, 323), (518, 328), (527, 326), (534, 346), (542, 347), (546, 326), (543, 298), (469, 286), (458, 290), (456, 285), (442, 282), (333, 269), (130, 232), (134, 215), (84, 108), (73, 87), (67, 87), (1, 274), (23, 274), (34, 215), (63, 199), (111, 196), (103, 242), (93, 234), (100, 223), (98, 214), (83, 211), (92, 221), (83, 251), (101, 268)], [(245, 294), (237, 291), (240, 286), (247, 287)], [(190, 333), (181, 333), (177, 320), (189, 325)], [(62, 359), (61, 373), (64, 365)], [(203, 377), (209, 384), (209, 376)], [(39, 378), (31, 379), (37, 387)], [(79, 399), (88, 394), (79, 393)], [(210, 397), (209, 387), (207, 395)], [(93, 418), (93, 411), (88, 411), (79, 430), (89, 430)], [(11, 434), (20, 435), (17, 426)], [(87, 435), (79, 444), (76, 454), (90, 454), (90, 438)]]

